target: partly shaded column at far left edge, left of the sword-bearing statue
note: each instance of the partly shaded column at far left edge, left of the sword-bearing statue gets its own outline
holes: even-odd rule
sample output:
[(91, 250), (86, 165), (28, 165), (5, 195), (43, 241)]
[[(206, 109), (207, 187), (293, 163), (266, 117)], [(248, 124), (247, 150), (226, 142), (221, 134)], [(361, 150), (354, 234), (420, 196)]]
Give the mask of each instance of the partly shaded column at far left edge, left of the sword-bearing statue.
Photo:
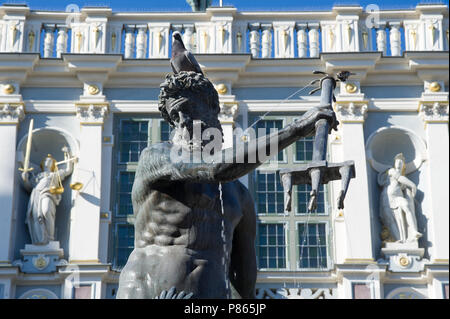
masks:
[(17, 126), (23, 117), (23, 103), (4, 103), (0, 100), (0, 265), (10, 264), (12, 257), (16, 138)]

